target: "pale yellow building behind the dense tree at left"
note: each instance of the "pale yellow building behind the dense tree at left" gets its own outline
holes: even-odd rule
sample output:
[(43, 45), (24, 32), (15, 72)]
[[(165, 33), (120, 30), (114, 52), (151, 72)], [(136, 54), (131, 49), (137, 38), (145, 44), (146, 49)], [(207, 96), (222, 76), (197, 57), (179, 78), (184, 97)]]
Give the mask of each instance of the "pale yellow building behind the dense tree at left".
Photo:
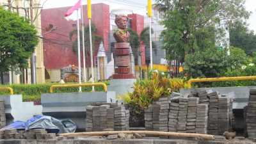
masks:
[[(31, 9), (32, 7), (32, 17), (33, 17), (33, 24), (35, 25), (36, 30), (38, 31), (38, 38), (41, 35), (41, 16), (40, 11), (40, 4), (38, 0), (0, 0), (0, 6), (3, 6), (4, 9), (8, 10), (11, 8), (12, 12), (18, 13), (22, 17), (26, 17), (31, 19)], [(35, 53), (33, 54), (35, 59), (35, 83), (45, 83), (45, 67), (44, 67), (44, 56), (43, 56), (43, 42), (39, 40), (38, 45), (35, 47)], [(31, 84), (31, 63), (28, 60), (29, 68), (23, 70), (22, 75), (15, 74), (14, 72), (9, 72), (10, 74), (10, 84), (12, 83), (27, 83)]]

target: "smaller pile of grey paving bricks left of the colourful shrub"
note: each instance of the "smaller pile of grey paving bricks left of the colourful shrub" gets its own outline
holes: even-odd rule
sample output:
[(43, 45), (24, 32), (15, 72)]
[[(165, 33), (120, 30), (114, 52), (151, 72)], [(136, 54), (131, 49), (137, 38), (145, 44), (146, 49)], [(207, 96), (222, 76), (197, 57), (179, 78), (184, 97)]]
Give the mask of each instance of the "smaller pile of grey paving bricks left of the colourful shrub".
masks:
[(102, 103), (96, 102), (86, 106), (85, 129), (86, 131), (115, 131), (129, 130), (129, 110), (121, 102)]

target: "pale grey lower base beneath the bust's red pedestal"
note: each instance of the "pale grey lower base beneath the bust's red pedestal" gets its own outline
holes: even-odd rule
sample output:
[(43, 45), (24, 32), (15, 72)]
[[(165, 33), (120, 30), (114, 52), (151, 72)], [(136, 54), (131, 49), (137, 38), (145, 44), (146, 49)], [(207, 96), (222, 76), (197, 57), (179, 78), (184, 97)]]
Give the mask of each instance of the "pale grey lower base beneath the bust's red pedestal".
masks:
[(125, 95), (127, 92), (133, 92), (132, 86), (136, 79), (111, 79), (108, 91), (116, 92), (116, 96)]

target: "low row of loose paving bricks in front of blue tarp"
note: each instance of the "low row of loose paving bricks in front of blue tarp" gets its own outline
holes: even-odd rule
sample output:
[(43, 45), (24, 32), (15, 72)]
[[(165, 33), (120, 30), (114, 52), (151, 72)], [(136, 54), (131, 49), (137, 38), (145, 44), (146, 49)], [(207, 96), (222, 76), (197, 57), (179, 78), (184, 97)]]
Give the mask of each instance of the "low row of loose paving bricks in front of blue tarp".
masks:
[(6, 129), (0, 131), (0, 138), (5, 140), (28, 139), (28, 140), (56, 140), (55, 133), (47, 133), (45, 129), (29, 129), (29, 131), (17, 131), (17, 129)]

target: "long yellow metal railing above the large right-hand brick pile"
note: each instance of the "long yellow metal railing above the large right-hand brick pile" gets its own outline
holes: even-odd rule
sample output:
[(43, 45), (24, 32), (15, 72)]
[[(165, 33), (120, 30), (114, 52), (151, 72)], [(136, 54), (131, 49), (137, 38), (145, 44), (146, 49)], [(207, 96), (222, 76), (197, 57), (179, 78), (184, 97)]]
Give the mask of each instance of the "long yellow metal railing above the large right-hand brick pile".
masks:
[(203, 81), (236, 81), (236, 80), (249, 80), (256, 79), (256, 76), (246, 76), (246, 77), (212, 77), (204, 79), (189, 79), (188, 88), (191, 88), (191, 83), (193, 82), (203, 82)]

